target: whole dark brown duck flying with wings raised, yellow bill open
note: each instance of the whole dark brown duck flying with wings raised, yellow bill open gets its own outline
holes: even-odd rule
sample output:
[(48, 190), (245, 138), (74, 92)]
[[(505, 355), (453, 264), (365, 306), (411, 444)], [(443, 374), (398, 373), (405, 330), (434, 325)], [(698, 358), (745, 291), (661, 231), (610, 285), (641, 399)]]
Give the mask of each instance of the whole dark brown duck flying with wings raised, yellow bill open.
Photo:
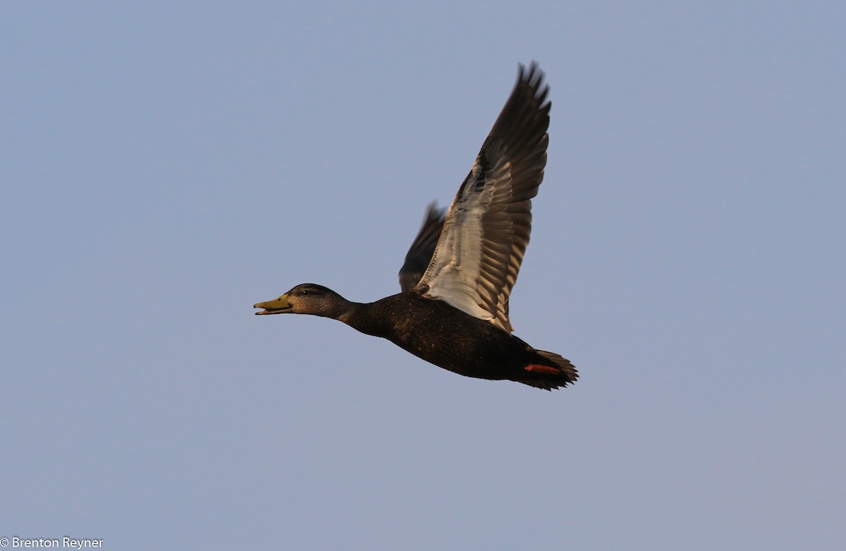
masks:
[(552, 390), (575, 366), (514, 335), (508, 300), (531, 231), (531, 200), (547, 165), (549, 86), (536, 62), (517, 83), (448, 211), (432, 203), (399, 270), (400, 292), (354, 302), (299, 284), (254, 305), (258, 316), (308, 314), (387, 339), (450, 372)]

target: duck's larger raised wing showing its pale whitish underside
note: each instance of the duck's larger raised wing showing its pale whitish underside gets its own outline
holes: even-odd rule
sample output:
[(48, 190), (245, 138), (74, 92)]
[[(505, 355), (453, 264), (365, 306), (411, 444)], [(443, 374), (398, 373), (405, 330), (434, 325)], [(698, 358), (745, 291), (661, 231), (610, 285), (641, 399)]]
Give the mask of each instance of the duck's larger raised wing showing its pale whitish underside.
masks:
[(517, 84), (464, 179), (415, 290), (509, 333), (508, 297), (531, 230), (531, 198), (547, 164), (549, 87), (537, 63)]

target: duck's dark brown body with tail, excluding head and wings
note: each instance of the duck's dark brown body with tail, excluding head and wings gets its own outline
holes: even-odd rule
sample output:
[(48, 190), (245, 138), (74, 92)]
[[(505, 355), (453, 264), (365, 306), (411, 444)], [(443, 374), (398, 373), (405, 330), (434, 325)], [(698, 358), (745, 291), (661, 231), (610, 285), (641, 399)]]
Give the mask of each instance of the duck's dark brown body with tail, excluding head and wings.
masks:
[(340, 319), (361, 333), (388, 339), (423, 360), (467, 377), (508, 379), (538, 388), (558, 388), (575, 381), (573, 365), (560, 355), (536, 350), (490, 322), (415, 292), (355, 304)]

